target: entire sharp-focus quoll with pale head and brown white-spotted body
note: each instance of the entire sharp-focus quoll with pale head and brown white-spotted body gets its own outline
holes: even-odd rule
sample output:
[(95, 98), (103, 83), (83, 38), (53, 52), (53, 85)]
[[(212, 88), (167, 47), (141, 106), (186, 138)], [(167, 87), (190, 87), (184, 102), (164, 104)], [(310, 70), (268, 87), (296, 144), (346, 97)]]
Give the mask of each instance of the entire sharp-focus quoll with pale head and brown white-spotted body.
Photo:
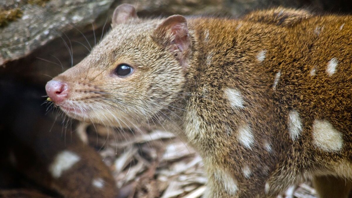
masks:
[[(351, 21), (282, 8), (140, 20), (124, 4), (46, 89), (77, 119), (186, 138), (203, 157), (207, 197), (275, 196), (309, 177), (329, 197), (352, 179)], [(342, 179), (321, 187), (325, 175)]]

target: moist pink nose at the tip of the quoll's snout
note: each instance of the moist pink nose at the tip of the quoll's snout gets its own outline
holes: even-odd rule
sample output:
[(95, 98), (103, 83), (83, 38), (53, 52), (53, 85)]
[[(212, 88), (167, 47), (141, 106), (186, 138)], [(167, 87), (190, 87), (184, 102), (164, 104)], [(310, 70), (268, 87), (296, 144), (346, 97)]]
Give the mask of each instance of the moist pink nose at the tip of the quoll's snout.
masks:
[(54, 101), (55, 104), (60, 104), (67, 98), (68, 86), (57, 80), (51, 80), (45, 85), (46, 94)]

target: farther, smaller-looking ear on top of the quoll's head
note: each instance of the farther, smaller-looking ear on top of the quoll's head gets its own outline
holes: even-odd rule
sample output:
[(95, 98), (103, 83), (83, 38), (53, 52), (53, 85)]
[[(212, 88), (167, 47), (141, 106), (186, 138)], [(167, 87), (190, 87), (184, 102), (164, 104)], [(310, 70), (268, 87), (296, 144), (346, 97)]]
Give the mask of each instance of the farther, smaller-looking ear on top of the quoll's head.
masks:
[(114, 14), (112, 15), (111, 26), (115, 27), (118, 24), (128, 23), (137, 18), (136, 8), (130, 4), (121, 4), (115, 8)]

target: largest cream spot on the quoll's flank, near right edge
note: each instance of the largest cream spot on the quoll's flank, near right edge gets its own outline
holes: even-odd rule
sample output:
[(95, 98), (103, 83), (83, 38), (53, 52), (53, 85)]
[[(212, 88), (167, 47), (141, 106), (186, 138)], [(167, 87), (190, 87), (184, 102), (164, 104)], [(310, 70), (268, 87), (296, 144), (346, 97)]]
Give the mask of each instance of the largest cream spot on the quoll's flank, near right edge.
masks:
[(338, 151), (344, 143), (342, 134), (327, 120), (314, 120), (313, 142), (316, 146), (325, 151)]

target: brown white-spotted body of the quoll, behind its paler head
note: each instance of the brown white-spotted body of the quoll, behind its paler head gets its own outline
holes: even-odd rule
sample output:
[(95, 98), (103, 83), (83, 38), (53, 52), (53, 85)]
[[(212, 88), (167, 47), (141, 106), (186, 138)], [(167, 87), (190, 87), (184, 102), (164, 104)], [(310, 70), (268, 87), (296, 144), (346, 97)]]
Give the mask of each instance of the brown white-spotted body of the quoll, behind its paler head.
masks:
[(195, 23), (204, 51), (190, 78), (186, 133), (218, 186), (212, 196), (275, 195), (312, 175), (350, 175), (349, 20)]

